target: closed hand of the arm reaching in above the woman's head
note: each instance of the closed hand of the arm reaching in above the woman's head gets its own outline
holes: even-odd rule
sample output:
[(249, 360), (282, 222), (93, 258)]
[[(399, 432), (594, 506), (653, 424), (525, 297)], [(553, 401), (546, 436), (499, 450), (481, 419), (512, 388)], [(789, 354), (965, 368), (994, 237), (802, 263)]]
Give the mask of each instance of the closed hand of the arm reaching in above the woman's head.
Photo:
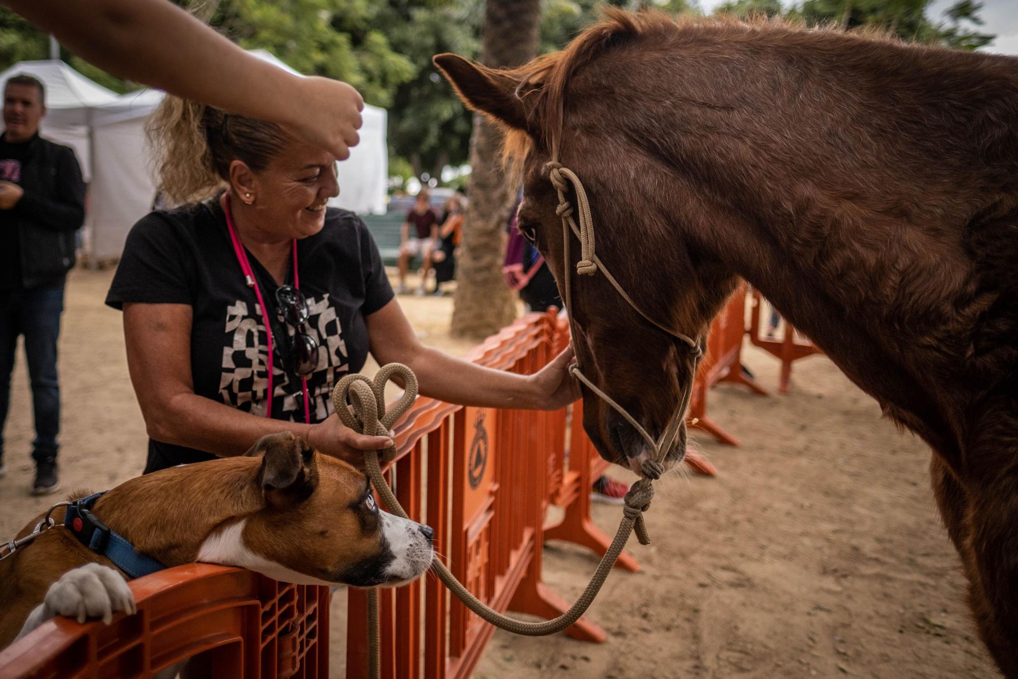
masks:
[(350, 157), (360, 137), (364, 100), (352, 87), (328, 77), (299, 77), (293, 118), (286, 125), (297, 139), (325, 149), (337, 160)]

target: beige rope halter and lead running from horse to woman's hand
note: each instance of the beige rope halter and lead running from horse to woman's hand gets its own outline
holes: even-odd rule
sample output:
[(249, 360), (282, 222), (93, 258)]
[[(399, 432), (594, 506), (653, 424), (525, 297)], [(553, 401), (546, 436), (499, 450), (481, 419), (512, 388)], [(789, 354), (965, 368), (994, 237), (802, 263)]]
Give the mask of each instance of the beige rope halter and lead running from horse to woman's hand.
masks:
[[(682, 388), (682, 396), (679, 399), (678, 409), (675, 411), (675, 414), (672, 415), (672, 418), (665, 427), (665, 431), (662, 432), (661, 437), (655, 441), (651, 434), (647, 433), (642, 426), (640, 426), (635, 418), (629, 415), (624, 408), (612, 400), (607, 394), (595, 386), (593, 383), (587, 379), (585, 375), (583, 375), (578, 365), (574, 365), (570, 368), (570, 373), (573, 376), (582, 381), (587, 388), (597, 394), (605, 401), (605, 403), (618, 411), (626, 419), (626, 421), (629, 422), (629, 424), (631, 424), (637, 432), (639, 432), (640, 436), (654, 451), (654, 455), (651, 459), (644, 460), (643, 464), (640, 466), (640, 470), (643, 475), (639, 480), (632, 484), (629, 488), (629, 492), (625, 495), (625, 507), (622, 510), (622, 521), (619, 523), (619, 529), (616, 531), (615, 537), (612, 539), (612, 543), (609, 545), (605, 556), (602, 557), (601, 562), (598, 564), (598, 568), (593, 573), (593, 577), (590, 578), (589, 584), (587, 584), (579, 598), (576, 599), (571, 607), (569, 607), (568, 611), (557, 618), (546, 620), (544, 622), (524, 622), (514, 618), (509, 618), (494, 609), (489, 608), (484, 602), (474, 596), (472, 592), (470, 592), (459, 580), (456, 579), (456, 577), (449, 571), (448, 568), (446, 568), (445, 564), (443, 564), (438, 557), (436, 557), (432, 562), (432, 570), (435, 571), (435, 574), (446, 585), (446, 587), (449, 588), (449, 591), (455, 594), (456, 597), (459, 598), (468, 609), (473, 611), (473, 613), (475, 613), (483, 620), (495, 625), (496, 627), (500, 627), (506, 631), (524, 636), (545, 636), (548, 634), (555, 634), (557, 632), (561, 632), (579, 620), (579, 618), (590, 607), (590, 604), (593, 603), (595, 597), (597, 597), (598, 592), (605, 583), (605, 579), (615, 566), (615, 562), (618, 560), (619, 555), (622, 554), (622, 550), (625, 547), (626, 542), (629, 540), (629, 535), (633, 531), (636, 532), (636, 538), (639, 540), (640, 544), (649, 544), (651, 536), (646, 531), (646, 525), (643, 523), (643, 512), (651, 507), (651, 501), (654, 499), (653, 483), (661, 477), (662, 473), (664, 473), (664, 463), (666, 457), (668, 456), (668, 452), (675, 445), (676, 440), (682, 440), (685, 438), (685, 421), (683, 419), (683, 414), (685, 413), (686, 408), (689, 405), (689, 400), (692, 396), (692, 375), (696, 374), (696, 366), (702, 355), (699, 343), (693, 341), (688, 335), (665, 327), (643, 313), (643, 311), (636, 306), (626, 292), (622, 290), (622, 286), (609, 272), (608, 268), (605, 267), (604, 263), (598, 258), (595, 252), (593, 219), (590, 215), (590, 206), (586, 198), (586, 192), (584, 191), (579, 177), (576, 176), (572, 170), (562, 167), (562, 165), (556, 160), (557, 155), (558, 154), (555, 154), (552, 162), (548, 163), (548, 168), (552, 185), (555, 187), (555, 190), (559, 195), (559, 205), (556, 208), (556, 213), (562, 219), (566, 282), (566, 313), (569, 317), (570, 331), (573, 331), (572, 284), (569, 275), (569, 231), (571, 230), (580, 242), (580, 261), (576, 264), (576, 273), (579, 275), (593, 275), (593, 273), (600, 269), (615, 290), (618, 291), (619, 295), (622, 296), (622, 299), (624, 299), (629, 306), (635, 309), (637, 313), (655, 326), (661, 328), (668, 334), (681, 340), (689, 346), (692, 360), (692, 371), (690, 372), (688, 382)], [(568, 185), (566, 184), (567, 179), (573, 186), (573, 190), (576, 194), (576, 202), (580, 209), (580, 221), (578, 225), (572, 218), (572, 205), (570, 205), (569, 201), (566, 199), (566, 191), (568, 190)], [(573, 336), (575, 336), (574, 331)], [(402, 379), (403, 396), (400, 397), (399, 401), (393, 404), (392, 408), (387, 410), (385, 405), (385, 385), (392, 377), (399, 377)], [(416, 376), (413, 374), (412, 370), (399, 363), (390, 363), (383, 366), (375, 376), (374, 380), (370, 380), (363, 375), (346, 375), (339, 381), (338, 384), (336, 384), (336, 388), (332, 394), (333, 406), (335, 407), (336, 413), (339, 415), (339, 418), (342, 420), (344, 425), (354, 431), (357, 431), (358, 433), (379, 436), (389, 435), (389, 431), (392, 429), (392, 426), (409, 409), (416, 397)], [(353, 412), (351, 412), (351, 409)], [(379, 417), (380, 413), (382, 414), (381, 417)], [(382, 456), (383, 460), (386, 462), (392, 461), (396, 456), (395, 442), (383, 451)], [(372, 479), (372, 483), (375, 485), (375, 489), (382, 498), (382, 502), (385, 503), (387, 509), (396, 516), (409, 520), (410, 517), (403, 511), (399, 501), (396, 500), (392, 489), (389, 487), (385, 477), (382, 475), (378, 451), (364, 451), (364, 466), (367, 469), (367, 474)], [(367, 671), (369, 676), (372, 677), (372, 679), (377, 679), (381, 673), (381, 639), (379, 633), (379, 595), (378, 589), (375, 588), (367, 590)]]

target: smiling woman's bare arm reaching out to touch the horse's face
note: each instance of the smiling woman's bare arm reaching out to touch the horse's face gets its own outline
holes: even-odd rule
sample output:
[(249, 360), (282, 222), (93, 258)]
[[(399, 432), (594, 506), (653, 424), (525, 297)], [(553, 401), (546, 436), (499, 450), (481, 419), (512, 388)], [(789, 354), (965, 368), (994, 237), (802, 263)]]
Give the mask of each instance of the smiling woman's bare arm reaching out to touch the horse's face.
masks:
[(517, 375), (425, 347), (395, 299), (366, 321), (375, 360), (380, 365), (409, 366), (423, 396), (464, 406), (531, 410), (558, 410), (579, 398), (579, 386), (568, 371), (573, 359), (571, 347), (540, 372)]

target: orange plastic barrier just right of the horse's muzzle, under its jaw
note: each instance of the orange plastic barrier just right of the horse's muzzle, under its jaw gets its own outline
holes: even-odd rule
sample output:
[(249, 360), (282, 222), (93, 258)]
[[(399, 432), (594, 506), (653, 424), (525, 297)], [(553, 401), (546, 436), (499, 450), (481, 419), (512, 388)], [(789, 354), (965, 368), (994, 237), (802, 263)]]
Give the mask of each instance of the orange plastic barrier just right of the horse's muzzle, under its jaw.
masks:
[(728, 300), (725, 308), (711, 323), (706, 338), (706, 352), (696, 371), (688, 418), (697, 420), (693, 426), (703, 429), (715, 438), (729, 446), (739, 440), (725, 431), (708, 415), (708, 393), (718, 382), (744, 384), (761, 396), (767, 389), (757, 384), (742, 370), (742, 341), (746, 323), (746, 284), (743, 282)]

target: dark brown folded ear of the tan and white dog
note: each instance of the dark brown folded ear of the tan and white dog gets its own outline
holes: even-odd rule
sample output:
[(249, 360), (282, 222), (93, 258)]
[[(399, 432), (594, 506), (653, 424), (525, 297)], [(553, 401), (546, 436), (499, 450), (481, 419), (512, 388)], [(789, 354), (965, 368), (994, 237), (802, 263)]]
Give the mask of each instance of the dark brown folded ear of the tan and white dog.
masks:
[(263, 455), (259, 480), (273, 504), (303, 502), (318, 485), (315, 450), (289, 431), (262, 436), (245, 455)]

